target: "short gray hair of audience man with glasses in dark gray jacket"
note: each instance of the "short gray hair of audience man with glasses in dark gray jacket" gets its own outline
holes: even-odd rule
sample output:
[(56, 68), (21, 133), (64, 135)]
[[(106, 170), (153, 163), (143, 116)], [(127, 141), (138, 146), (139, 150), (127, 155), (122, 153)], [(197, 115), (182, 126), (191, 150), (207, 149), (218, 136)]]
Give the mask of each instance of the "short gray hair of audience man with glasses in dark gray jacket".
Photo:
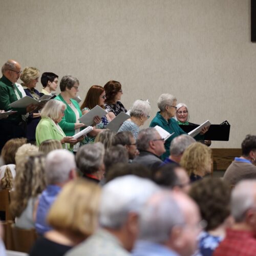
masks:
[(151, 140), (156, 139), (158, 132), (155, 128), (150, 127), (146, 129), (142, 129), (136, 141), (136, 145), (139, 151), (146, 151), (149, 147), (149, 143)]

